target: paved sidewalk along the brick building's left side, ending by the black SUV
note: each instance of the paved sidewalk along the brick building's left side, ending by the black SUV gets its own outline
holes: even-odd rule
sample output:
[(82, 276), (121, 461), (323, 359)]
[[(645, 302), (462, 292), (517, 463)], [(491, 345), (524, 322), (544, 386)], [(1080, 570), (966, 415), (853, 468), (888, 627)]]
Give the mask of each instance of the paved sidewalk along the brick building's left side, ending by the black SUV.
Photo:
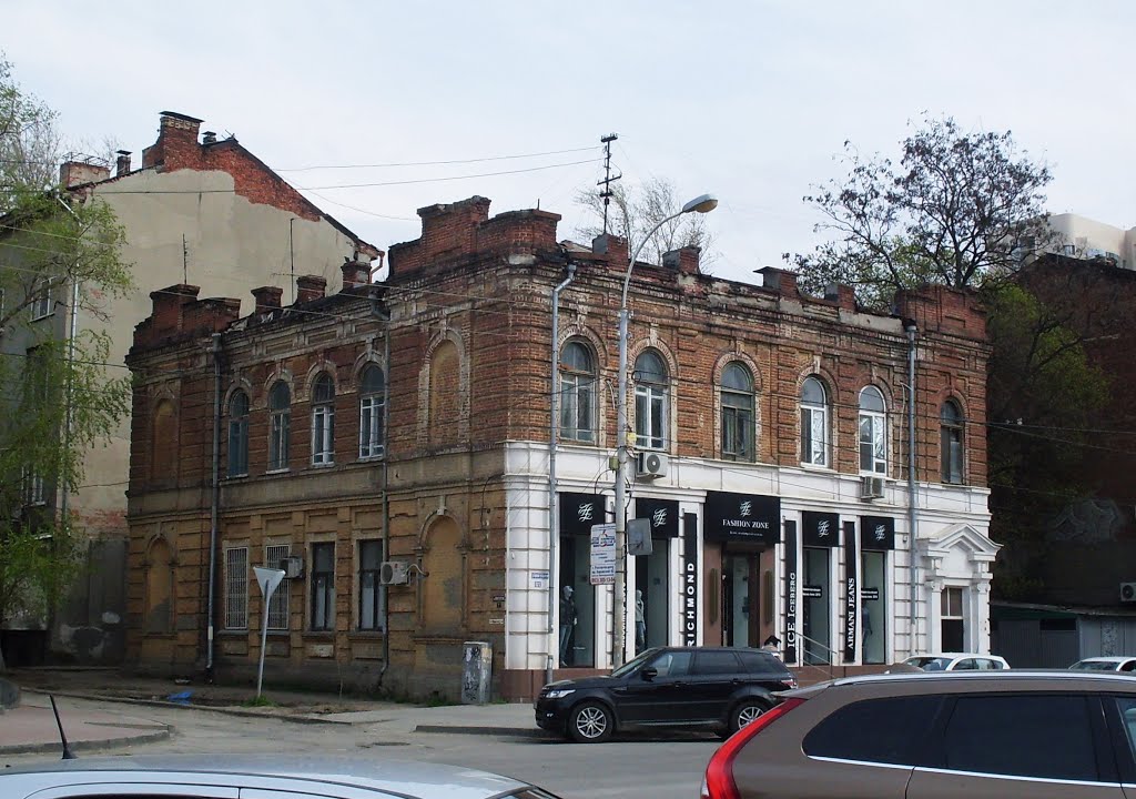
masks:
[[(301, 724), (376, 725), (392, 736), (414, 733), (474, 733), (536, 736), (542, 733), (528, 704), (417, 705), (360, 699), (337, 694), (266, 688), (275, 702), (244, 707), (254, 694), (248, 686), (181, 684), (172, 680), (124, 677), (112, 669), (14, 669), (9, 679), (24, 691), (19, 708), (0, 715), (0, 754), (60, 751), (59, 734), (48, 693), (62, 698), (122, 702), (139, 708), (176, 708), (178, 711), (225, 713), (270, 717)], [(181, 694), (181, 700), (170, 697)], [(65, 700), (64, 700), (65, 701)], [(65, 710), (64, 730), (73, 749), (118, 746), (168, 738), (169, 726), (157, 722), (81, 709)]]

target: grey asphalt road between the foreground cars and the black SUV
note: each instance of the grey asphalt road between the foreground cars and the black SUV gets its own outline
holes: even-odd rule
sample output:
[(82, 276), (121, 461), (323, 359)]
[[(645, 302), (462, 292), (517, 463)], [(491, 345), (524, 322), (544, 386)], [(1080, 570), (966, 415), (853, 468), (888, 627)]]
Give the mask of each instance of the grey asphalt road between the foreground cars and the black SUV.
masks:
[[(74, 701), (74, 700), (73, 700)], [(707, 760), (720, 743), (712, 735), (625, 738), (576, 744), (553, 738), (408, 732), (392, 736), (375, 725), (298, 724), (161, 707), (90, 702), (98, 709), (172, 724), (167, 741), (120, 747), (108, 755), (314, 752), (428, 760), (482, 768), (534, 782), (565, 799), (695, 799)], [(42, 755), (3, 758), (17, 764)]]

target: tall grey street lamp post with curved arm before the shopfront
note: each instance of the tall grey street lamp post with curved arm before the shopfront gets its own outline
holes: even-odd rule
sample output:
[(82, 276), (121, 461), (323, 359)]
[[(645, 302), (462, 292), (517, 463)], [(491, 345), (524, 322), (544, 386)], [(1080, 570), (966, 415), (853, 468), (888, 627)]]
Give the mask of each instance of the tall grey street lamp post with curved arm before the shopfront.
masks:
[(702, 194), (683, 206), (682, 210), (660, 220), (659, 224), (643, 236), (643, 241), (635, 248), (630, 259), (627, 261), (627, 274), (624, 276), (624, 291), (619, 300), (619, 401), (616, 406), (616, 435), (618, 436), (616, 450), (616, 557), (618, 561), (616, 564), (616, 584), (613, 586), (615, 602), (612, 609), (615, 619), (612, 624), (613, 641), (611, 646), (612, 665), (617, 667), (624, 664), (624, 658), (627, 655), (627, 633), (625, 632), (626, 624), (624, 618), (627, 607), (627, 586), (625, 583), (627, 568), (627, 510), (625, 505), (627, 501), (627, 436), (629, 433), (627, 430), (627, 286), (630, 285), (632, 269), (635, 268), (635, 261), (638, 259), (640, 252), (643, 251), (643, 247), (646, 245), (646, 242), (651, 240), (651, 236), (660, 227), (671, 219), (677, 219), (683, 214), (709, 214), (717, 207), (718, 199), (716, 197), (712, 194)]

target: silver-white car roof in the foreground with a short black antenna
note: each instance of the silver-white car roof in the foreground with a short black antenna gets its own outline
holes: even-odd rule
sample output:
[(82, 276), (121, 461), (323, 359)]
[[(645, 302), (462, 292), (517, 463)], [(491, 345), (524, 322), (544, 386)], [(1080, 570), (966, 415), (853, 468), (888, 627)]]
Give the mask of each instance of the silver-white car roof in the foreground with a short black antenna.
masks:
[(511, 777), (427, 763), (336, 759), (325, 755), (94, 758), (0, 771), (5, 799), (154, 799), (241, 796), (315, 799), (556, 799)]

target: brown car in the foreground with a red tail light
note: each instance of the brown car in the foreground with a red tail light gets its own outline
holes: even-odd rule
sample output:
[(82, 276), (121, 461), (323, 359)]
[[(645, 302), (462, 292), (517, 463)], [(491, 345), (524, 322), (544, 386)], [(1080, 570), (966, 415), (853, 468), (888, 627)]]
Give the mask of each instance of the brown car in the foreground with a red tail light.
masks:
[(782, 694), (715, 752), (702, 798), (1122, 799), (1134, 741), (1136, 681), (1118, 674), (847, 677)]

